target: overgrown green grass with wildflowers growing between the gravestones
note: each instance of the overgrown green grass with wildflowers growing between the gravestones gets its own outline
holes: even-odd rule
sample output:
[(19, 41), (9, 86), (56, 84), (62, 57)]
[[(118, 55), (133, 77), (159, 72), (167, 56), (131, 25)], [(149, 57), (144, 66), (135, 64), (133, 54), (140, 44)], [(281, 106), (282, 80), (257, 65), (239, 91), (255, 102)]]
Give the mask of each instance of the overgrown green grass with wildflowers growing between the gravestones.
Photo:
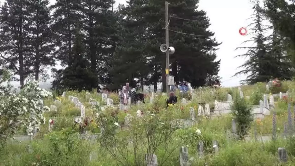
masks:
[[(255, 104), (262, 99), (262, 95), (285, 93), (289, 91), (287, 99), (276, 99), (275, 111), (276, 134), (283, 133), (284, 124), (288, 121), (288, 103), (292, 104), (294, 99), (295, 82), (283, 82), (281, 87), (271, 88), (266, 91), (263, 83), (251, 86), (242, 86), (244, 96), (249, 104)], [(237, 87), (220, 89), (195, 89), (196, 98), (191, 99), (191, 95), (186, 98), (187, 105), (178, 102), (166, 110), (166, 96), (158, 94), (153, 103), (140, 106), (132, 106), (128, 113), (117, 108), (107, 108), (101, 111), (99, 107), (92, 107), (89, 99), (86, 99), (86, 92), (70, 91), (66, 92), (66, 97), (53, 95), (53, 98), (46, 99), (44, 104), (50, 107), (55, 100), (61, 102), (56, 105), (57, 112), (46, 112), (46, 122), (35, 135), (33, 141), (8, 141), (1, 149), (0, 165), (7, 166), (142, 166), (146, 153), (156, 154), (159, 166), (179, 166), (179, 148), (188, 148), (189, 162), (192, 166), (273, 166), (280, 165), (278, 160), (278, 148), (284, 147), (288, 152), (288, 162), (282, 165), (295, 165), (295, 139), (291, 136), (282, 139), (278, 136), (276, 141), (259, 142), (227, 139), (226, 131), (232, 128), (232, 115), (218, 118), (197, 117), (194, 126), (191, 128), (177, 128), (173, 121), (176, 119), (187, 119), (190, 117), (189, 108), (194, 108), (196, 115), (198, 103), (209, 103), (214, 110), (214, 100), (226, 101), (227, 94), (233, 94)], [(178, 94), (178, 93), (177, 93)], [(78, 97), (86, 108), (86, 118), (92, 121), (84, 130), (92, 134), (103, 134), (94, 142), (80, 139), (80, 129), (73, 125), (73, 117), (80, 116), (80, 110), (68, 100), (68, 96)], [(114, 100), (114, 104), (119, 104), (118, 95), (107, 94), (108, 98)], [(102, 102), (101, 94), (91, 93), (91, 98)], [(245, 97), (246, 98), (246, 97)], [(114, 117), (112, 113), (116, 112)], [(137, 118), (136, 111), (143, 111), (142, 118)], [(131, 114), (131, 126), (127, 127), (125, 117)], [(48, 120), (54, 119), (53, 131), (48, 131)], [(292, 118), (294, 120), (294, 117)], [(273, 116), (266, 116), (264, 119), (255, 119), (251, 123), (248, 135), (254, 134), (254, 126), (258, 135), (273, 133)], [(117, 126), (118, 124), (118, 126)], [(293, 126), (295, 124), (293, 123)], [(201, 131), (201, 134), (198, 132)], [(24, 135), (22, 128), (17, 135)], [(213, 151), (212, 141), (217, 140), (219, 152)], [(204, 155), (199, 157), (197, 147), (199, 141), (204, 143)], [(90, 160), (91, 158), (91, 160)]]

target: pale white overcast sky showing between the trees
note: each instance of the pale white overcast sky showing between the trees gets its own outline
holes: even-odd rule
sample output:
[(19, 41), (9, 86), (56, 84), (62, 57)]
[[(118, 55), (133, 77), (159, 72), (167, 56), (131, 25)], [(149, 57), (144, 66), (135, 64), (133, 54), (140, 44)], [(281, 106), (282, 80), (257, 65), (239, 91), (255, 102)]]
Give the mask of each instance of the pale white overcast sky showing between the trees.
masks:
[[(4, 0), (0, 0), (4, 2)], [(55, 0), (51, 0), (55, 3)], [(126, 4), (126, 0), (116, 0), (116, 4)], [(249, 0), (200, 0), (199, 9), (207, 12), (211, 26), (209, 30), (215, 32), (218, 42), (222, 42), (217, 53), (217, 60), (221, 59), (219, 76), (222, 77), (222, 86), (237, 86), (245, 76), (232, 77), (240, 69), (245, 59), (234, 58), (236, 55), (245, 53), (245, 50), (235, 51), (235, 48), (246, 46), (242, 42), (249, 40), (251, 35), (239, 34), (241, 27), (247, 27), (253, 14)], [(174, 32), (169, 32), (174, 33)], [(248, 45), (249, 46), (249, 45)], [(174, 46), (177, 50), (177, 45)], [(50, 80), (52, 81), (52, 79)], [(19, 83), (16, 83), (19, 86)]]

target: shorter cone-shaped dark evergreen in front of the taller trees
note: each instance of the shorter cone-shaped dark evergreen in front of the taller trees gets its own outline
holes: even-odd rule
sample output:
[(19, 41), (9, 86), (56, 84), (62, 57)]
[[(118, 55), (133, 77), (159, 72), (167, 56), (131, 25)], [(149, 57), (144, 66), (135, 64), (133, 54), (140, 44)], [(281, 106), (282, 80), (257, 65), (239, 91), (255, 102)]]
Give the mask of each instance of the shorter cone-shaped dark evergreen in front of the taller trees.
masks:
[(88, 90), (92, 91), (91, 82), (97, 82), (97, 77), (91, 72), (89, 61), (85, 58), (85, 48), (83, 46), (83, 36), (79, 28), (75, 31), (75, 41), (69, 63), (71, 66), (65, 70), (59, 70), (53, 81), (53, 89), (60, 90)]

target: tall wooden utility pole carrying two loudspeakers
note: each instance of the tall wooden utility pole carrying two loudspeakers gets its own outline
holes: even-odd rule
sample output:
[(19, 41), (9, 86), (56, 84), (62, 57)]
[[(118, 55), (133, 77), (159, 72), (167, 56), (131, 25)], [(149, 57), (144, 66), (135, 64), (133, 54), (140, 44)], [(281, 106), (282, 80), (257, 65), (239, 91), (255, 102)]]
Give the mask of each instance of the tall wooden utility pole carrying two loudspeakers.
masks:
[(168, 5), (169, 3), (167, 1), (165, 1), (165, 30), (166, 30), (166, 45), (167, 45), (167, 51), (166, 51), (166, 92), (167, 92), (167, 95), (169, 94), (170, 92), (170, 87), (168, 85), (168, 82), (169, 82), (169, 21), (168, 21), (168, 18), (169, 18), (169, 15), (168, 15)]

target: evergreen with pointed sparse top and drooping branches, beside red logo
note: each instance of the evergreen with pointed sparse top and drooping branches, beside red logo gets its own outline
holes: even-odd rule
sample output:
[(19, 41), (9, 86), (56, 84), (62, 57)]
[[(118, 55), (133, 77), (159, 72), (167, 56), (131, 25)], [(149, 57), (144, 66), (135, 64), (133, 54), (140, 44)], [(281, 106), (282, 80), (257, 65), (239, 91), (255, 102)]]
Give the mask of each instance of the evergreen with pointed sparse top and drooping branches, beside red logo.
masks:
[[(290, 79), (293, 75), (291, 70), (292, 66), (289, 57), (283, 53), (282, 42), (274, 29), (273, 35), (269, 37), (264, 36), (265, 30), (270, 29), (262, 24), (265, 20), (263, 9), (259, 5), (259, 1), (255, 2), (254, 9), (254, 25), (250, 30), (255, 32), (255, 36), (251, 40), (256, 44), (255, 47), (242, 47), (247, 48), (247, 53), (239, 56), (249, 58), (242, 66), (242, 71), (238, 74), (249, 74), (247, 79), (242, 80), (244, 83), (255, 84), (256, 82), (267, 82), (273, 78)], [(246, 42), (249, 42), (246, 41)]]

